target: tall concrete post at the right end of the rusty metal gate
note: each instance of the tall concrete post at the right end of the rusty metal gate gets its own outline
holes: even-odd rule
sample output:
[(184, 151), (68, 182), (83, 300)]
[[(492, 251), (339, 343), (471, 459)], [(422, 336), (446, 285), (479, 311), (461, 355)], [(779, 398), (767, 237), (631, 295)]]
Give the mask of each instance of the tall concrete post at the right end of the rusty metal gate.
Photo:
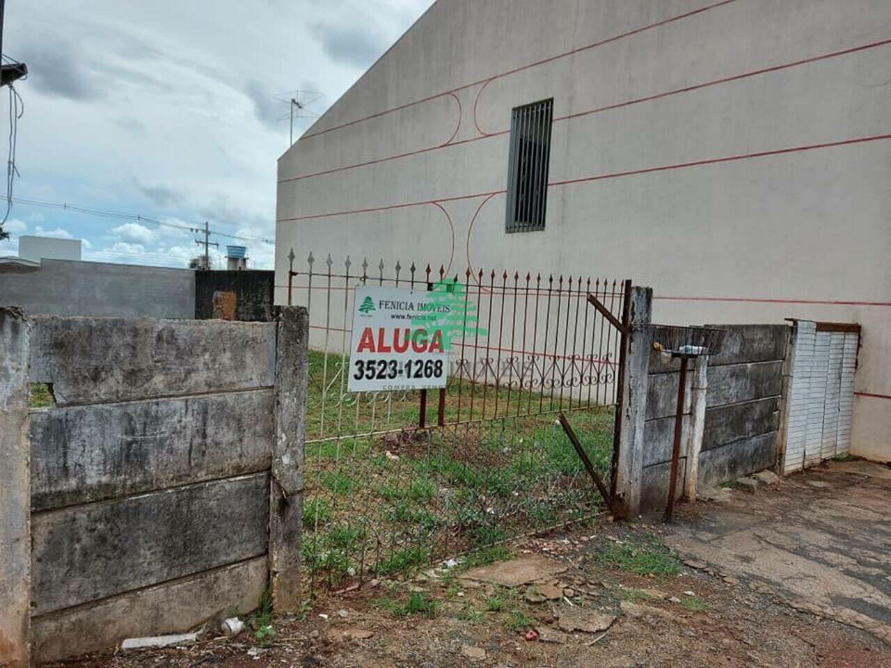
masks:
[(647, 374), (650, 365), (650, 321), (653, 289), (631, 290), (631, 331), (625, 338), (625, 378), (622, 387), (622, 431), (616, 468), (617, 517), (641, 511), (643, 424), (647, 414)]

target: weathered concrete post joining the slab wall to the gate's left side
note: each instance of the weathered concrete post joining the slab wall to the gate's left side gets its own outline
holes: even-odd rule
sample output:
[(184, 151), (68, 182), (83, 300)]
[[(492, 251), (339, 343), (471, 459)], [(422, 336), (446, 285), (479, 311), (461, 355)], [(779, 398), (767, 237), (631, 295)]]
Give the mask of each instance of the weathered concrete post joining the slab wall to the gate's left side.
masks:
[(269, 495), (269, 581), (277, 612), (293, 612), (301, 602), (308, 341), (307, 309), (282, 307), (275, 350), (275, 439)]

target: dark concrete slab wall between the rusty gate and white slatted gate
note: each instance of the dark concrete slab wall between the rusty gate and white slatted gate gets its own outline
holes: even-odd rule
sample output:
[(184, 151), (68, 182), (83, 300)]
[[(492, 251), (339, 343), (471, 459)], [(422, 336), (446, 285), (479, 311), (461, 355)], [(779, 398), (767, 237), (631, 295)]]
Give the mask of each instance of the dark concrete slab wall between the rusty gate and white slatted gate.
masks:
[[(696, 481), (699, 489), (774, 465), (782, 367), (789, 338), (787, 325), (713, 326), (728, 333), (722, 352), (710, 356), (707, 362), (705, 423)], [(658, 354), (650, 354), (644, 428), (644, 507), (658, 508), (667, 501), (678, 365), (677, 361), (663, 363)], [(683, 415), (678, 498), (684, 492), (686, 455), (692, 445), (693, 378), (691, 367)]]

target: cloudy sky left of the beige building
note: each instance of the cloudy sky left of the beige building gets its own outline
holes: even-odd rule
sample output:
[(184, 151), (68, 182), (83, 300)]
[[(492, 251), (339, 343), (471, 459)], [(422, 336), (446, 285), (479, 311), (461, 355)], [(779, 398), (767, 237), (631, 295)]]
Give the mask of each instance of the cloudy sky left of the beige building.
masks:
[[(322, 113), (431, 2), (10, 0), (4, 55), (29, 68), (13, 195), (273, 239), (290, 92), (317, 93), (301, 99)], [(20, 203), (5, 229), (0, 255), (20, 234), (82, 238), (105, 262), (184, 266), (198, 251), (176, 227)], [(267, 243), (212, 240), (273, 265)]]

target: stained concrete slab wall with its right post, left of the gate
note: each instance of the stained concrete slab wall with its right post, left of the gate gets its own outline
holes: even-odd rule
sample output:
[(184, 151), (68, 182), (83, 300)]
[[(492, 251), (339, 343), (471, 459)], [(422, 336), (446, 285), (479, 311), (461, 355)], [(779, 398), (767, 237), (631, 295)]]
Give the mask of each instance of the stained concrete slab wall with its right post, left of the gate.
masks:
[[(270, 563), (286, 566), (275, 570), (293, 607), (303, 413), (278, 408), (277, 395), (305, 393), (307, 319), (300, 308), (281, 317), (18, 318), (29, 333), (20, 366), (55, 399), (26, 411), (20, 429), (29, 443), (20, 486), (30, 487), (30, 541), (25, 533), (20, 542), (30, 542), (34, 660), (247, 612)], [(4, 425), (18, 415), (0, 409)], [(284, 501), (271, 470), (287, 483)], [(0, 509), (0, 529), (8, 516)]]

